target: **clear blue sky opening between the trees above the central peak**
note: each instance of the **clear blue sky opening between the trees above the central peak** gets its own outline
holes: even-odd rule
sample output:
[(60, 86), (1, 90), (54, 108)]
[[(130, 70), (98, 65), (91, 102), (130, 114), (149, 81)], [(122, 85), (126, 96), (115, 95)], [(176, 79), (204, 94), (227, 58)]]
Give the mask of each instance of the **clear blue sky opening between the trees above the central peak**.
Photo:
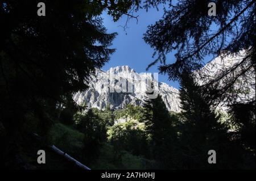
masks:
[[(151, 66), (151, 68), (146, 71), (147, 65), (153, 61), (152, 54), (154, 50), (150, 48), (150, 45), (147, 45), (142, 39), (143, 33), (146, 32), (147, 26), (154, 24), (157, 20), (163, 16), (163, 6), (159, 6), (159, 11), (156, 9), (146, 10), (141, 9), (138, 12), (135, 12), (135, 16), (138, 16), (138, 24), (135, 18), (130, 19), (127, 24), (129, 28), (126, 29), (126, 32), (122, 27), (124, 26), (127, 16), (123, 15), (118, 22), (113, 22), (111, 16), (106, 12), (102, 14), (104, 18), (104, 26), (108, 29), (109, 33), (117, 32), (118, 35), (113, 41), (112, 48), (117, 49), (115, 53), (111, 56), (110, 61), (105, 64), (102, 70), (109, 70), (111, 67), (128, 65), (131, 69), (134, 69), (137, 73), (150, 72), (155, 73), (158, 71), (158, 66), (156, 64)], [(126, 34), (127, 33), (127, 34)], [(171, 63), (174, 58), (174, 53), (167, 56), (167, 62)], [(178, 82), (168, 81), (167, 75), (158, 75), (159, 82), (168, 83), (168, 85), (179, 88)]]

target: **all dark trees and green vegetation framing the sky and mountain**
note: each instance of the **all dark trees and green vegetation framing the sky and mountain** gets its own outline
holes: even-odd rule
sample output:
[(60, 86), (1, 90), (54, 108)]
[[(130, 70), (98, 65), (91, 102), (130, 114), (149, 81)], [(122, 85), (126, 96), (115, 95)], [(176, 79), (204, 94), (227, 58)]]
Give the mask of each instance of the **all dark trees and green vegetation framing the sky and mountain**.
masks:
[[(49, 148), (55, 145), (90, 169), (255, 169), (255, 92), (237, 101), (238, 93), (249, 94), (237, 83), (255, 87), (246, 82), (255, 75), (255, 1), (214, 1), (214, 18), (209, 2), (46, 0), (46, 16), (38, 16), (36, 1), (1, 1), (0, 167), (81, 169)], [(117, 33), (108, 33), (102, 11), (117, 22), (162, 3), (169, 9), (143, 35), (154, 49), (145, 69), (159, 64), (159, 73), (179, 81), (182, 111), (168, 111), (160, 94), (150, 99), (149, 92), (141, 107), (77, 104), (73, 94), (87, 90), (115, 52)], [(206, 85), (196, 83), (192, 72), (205, 57), (241, 49), (241, 62)], [(216, 109), (222, 101), (226, 112)], [(38, 164), (38, 150), (46, 151), (45, 164)], [(209, 164), (209, 150), (216, 164)]]

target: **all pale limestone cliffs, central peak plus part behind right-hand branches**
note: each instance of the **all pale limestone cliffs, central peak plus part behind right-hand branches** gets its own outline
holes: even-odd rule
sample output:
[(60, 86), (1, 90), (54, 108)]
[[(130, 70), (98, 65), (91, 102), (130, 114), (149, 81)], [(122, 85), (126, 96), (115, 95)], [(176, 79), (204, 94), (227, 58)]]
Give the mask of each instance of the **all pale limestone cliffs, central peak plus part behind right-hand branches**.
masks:
[[(223, 70), (239, 64), (243, 57), (245, 57), (243, 50), (236, 56), (216, 57), (200, 70), (193, 72), (196, 82), (199, 85), (207, 83), (221, 74)], [(228, 74), (225, 78), (229, 79), (229, 76), (232, 74)], [(86, 103), (88, 108), (104, 109), (110, 104), (110, 108), (117, 110), (125, 108), (125, 105), (129, 103), (142, 106), (146, 96), (146, 84), (144, 83), (146, 79), (158, 82), (155, 75), (138, 74), (129, 66), (117, 66), (108, 71), (97, 69), (95, 76), (89, 80), (89, 89), (84, 92), (77, 92), (73, 95), (73, 99), (80, 105)], [(249, 94), (238, 94), (238, 100), (255, 99), (255, 71), (253, 68), (247, 72), (246, 79), (248, 80), (246, 82), (238, 80), (242, 82), (242, 85), (239, 83), (237, 87), (242, 87)], [(225, 83), (221, 80), (216, 86), (222, 85)], [(154, 86), (158, 87), (158, 93), (162, 96), (169, 111), (181, 111), (179, 90), (163, 82), (156, 83)], [(225, 102), (220, 105), (219, 108), (225, 111)]]

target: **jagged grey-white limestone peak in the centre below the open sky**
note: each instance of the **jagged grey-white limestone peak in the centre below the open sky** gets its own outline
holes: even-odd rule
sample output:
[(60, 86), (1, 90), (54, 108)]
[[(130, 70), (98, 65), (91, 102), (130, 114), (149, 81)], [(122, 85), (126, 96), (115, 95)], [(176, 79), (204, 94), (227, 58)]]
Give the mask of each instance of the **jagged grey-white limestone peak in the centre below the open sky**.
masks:
[[(117, 110), (129, 103), (142, 106), (146, 96), (145, 79), (155, 77), (153, 74), (138, 74), (129, 66), (117, 66), (108, 71), (97, 69), (89, 81), (89, 89), (77, 92), (73, 99), (80, 105), (86, 103), (88, 108), (104, 109), (110, 104), (110, 108)], [(169, 111), (180, 112), (179, 90), (159, 82), (158, 93)]]

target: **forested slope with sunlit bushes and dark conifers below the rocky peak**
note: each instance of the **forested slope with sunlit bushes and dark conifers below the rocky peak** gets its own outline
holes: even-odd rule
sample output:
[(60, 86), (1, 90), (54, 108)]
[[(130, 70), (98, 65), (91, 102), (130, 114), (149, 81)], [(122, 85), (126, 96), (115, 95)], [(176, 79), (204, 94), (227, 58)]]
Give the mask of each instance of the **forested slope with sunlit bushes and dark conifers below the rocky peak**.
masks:
[[(253, 110), (247, 110), (252, 116), (248, 129), (232, 110), (211, 112), (201, 95), (193, 92), (192, 79), (185, 80), (181, 113), (167, 111), (160, 96), (145, 98), (143, 108), (128, 104), (114, 111), (108, 105), (86, 113), (64, 108), (49, 130), (49, 141), (91, 169), (254, 169)], [(121, 117), (129, 119), (114, 124)], [(211, 149), (218, 164), (207, 162)], [(53, 159), (37, 169), (56, 169), (59, 164)]]

